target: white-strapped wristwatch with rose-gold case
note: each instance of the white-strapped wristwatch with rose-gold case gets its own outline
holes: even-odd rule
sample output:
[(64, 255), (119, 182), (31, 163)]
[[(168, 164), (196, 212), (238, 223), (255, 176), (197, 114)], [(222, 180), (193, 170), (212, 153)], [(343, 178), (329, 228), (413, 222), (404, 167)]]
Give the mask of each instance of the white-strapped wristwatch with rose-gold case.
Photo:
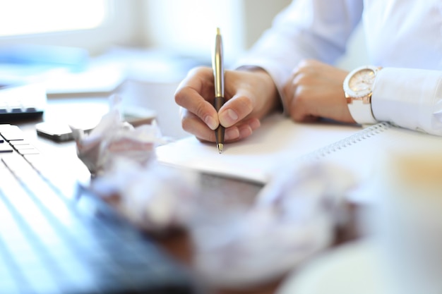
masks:
[(348, 109), (357, 123), (376, 123), (371, 111), (371, 93), (376, 74), (381, 68), (361, 66), (351, 71), (344, 80)]

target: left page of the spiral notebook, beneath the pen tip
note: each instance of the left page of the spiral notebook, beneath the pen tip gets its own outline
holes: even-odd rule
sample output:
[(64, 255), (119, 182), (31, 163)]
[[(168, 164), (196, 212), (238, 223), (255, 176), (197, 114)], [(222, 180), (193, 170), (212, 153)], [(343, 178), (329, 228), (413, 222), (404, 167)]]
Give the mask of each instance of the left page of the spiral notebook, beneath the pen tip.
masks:
[(157, 147), (157, 159), (204, 173), (268, 183), (281, 166), (361, 129), (330, 122), (294, 123), (277, 114), (266, 118), (261, 128), (245, 140), (225, 144), (222, 154), (214, 143), (203, 143), (191, 136)]

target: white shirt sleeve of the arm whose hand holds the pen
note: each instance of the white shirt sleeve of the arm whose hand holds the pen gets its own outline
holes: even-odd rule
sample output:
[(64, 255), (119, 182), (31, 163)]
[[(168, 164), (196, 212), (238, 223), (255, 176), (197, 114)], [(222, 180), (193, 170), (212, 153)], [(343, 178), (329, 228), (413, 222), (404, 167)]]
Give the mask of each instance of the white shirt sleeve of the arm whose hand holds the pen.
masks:
[(345, 53), (362, 11), (363, 0), (294, 0), (235, 67), (263, 68), (282, 94), (282, 87), (302, 59), (333, 64)]

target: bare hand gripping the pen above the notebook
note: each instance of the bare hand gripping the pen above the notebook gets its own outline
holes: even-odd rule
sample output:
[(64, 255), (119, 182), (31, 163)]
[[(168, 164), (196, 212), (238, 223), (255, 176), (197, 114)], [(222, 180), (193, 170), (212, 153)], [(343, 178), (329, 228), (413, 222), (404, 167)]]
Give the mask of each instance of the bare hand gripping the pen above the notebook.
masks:
[[(221, 125), (225, 128), (224, 143), (243, 140), (261, 125), (263, 116), (279, 106), (276, 87), (263, 70), (222, 69), (224, 74), (219, 75), (222, 80), (217, 85), (224, 87), (216, 90), (214, 68), (193, 68), (177, 88), (175, 102), (181, 106), (182, 128), (198, 140), (219, 144), (222, 141), (217, 141), (215, 130)], [(215, 95), (225, 98), (220, 109), (215, 109)]]

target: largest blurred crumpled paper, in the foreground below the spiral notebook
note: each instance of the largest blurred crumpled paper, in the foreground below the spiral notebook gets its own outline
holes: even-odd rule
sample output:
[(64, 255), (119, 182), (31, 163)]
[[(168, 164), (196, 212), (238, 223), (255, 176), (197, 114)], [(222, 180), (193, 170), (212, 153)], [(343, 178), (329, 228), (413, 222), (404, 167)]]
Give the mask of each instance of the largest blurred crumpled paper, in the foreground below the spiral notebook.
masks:
[(350, 172), (333, 164), (284, 169), (242, 217), (191, 228), (196, 270), (225, 288), (282, 276), (333, 243), (345, 195), (354, 185)]

